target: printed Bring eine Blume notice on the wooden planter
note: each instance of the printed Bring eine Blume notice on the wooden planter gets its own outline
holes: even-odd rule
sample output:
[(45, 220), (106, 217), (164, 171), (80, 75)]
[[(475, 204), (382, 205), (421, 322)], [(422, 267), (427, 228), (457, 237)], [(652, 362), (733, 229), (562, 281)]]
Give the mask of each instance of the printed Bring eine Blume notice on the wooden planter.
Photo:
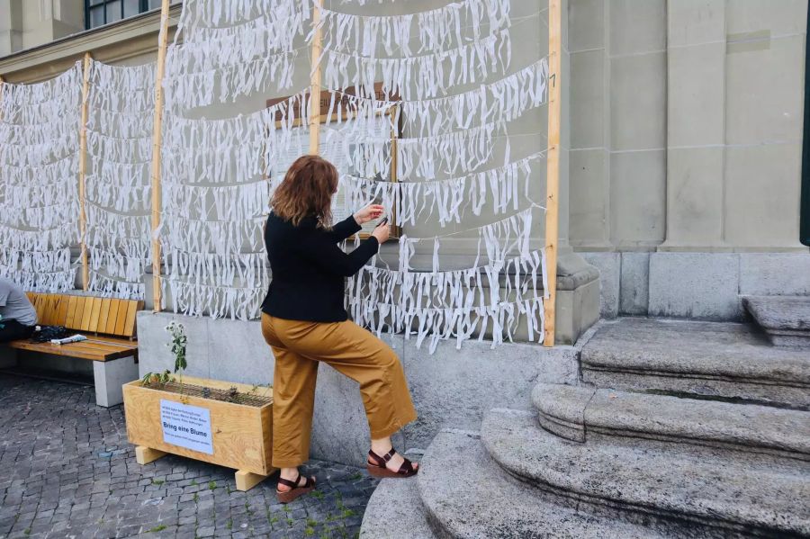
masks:
[(161, 399), (160, 423), (166, 444), (213, 454), (211, 410)]

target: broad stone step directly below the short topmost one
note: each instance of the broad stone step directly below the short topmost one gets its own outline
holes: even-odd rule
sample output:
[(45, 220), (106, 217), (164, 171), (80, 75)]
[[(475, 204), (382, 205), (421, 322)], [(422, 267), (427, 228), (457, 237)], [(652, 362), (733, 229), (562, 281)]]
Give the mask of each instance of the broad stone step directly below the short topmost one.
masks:
[(771, 346), (744, 324), (620, 319), (582, 347), (582, 380), (810, 409), (810, 354)]

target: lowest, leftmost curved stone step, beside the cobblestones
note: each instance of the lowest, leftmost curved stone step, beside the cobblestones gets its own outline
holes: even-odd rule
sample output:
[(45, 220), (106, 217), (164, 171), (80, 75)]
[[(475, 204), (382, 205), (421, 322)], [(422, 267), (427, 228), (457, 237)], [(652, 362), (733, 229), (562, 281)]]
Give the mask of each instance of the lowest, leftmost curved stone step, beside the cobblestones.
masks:
[(383, 479), (365, 508), (360, 539), (436, 539), (416, 478)]

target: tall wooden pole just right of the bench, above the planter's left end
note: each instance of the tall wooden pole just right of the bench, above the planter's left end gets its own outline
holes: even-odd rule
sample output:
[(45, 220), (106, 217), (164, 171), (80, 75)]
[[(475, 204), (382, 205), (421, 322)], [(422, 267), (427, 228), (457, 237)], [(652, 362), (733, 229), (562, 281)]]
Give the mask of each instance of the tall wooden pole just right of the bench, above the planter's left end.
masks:
[(160, 33), (157, 35), (157, 71), (155, 74), (155, 124), (152, 131), (152, 301), (153, 310), (160, 312), (160, 140), (163, 125), (163, 76), (166, 74), (166, 44), (168, 42), (169, 0), (160, 8)]

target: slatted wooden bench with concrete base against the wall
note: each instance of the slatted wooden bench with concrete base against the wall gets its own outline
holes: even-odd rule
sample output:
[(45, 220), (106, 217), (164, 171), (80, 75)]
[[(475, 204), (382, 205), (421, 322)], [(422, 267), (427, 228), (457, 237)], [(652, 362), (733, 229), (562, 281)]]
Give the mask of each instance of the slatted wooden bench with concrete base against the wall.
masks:
[(143, 301), (28, 292), (40, 326), (64, 326), (87, 340), (66, 345), (6, 343), (25, 352), (64, 355), (93, 362), (95, 402), (110, 407), (123, 402), (124, 383), (138, 379), (135, 318)]

